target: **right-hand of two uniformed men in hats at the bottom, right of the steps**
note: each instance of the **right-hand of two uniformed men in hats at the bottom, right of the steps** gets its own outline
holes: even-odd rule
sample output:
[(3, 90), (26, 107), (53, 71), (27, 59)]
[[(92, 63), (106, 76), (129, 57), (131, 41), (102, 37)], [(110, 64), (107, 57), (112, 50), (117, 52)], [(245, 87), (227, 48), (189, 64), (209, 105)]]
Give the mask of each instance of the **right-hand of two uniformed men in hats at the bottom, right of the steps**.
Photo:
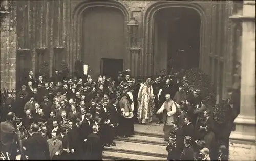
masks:
[(190, 136), (184, 137), (184, 149), (181, 153), (180, 160), (194, 160), (194, 149), (191, 146), (192, 138)]

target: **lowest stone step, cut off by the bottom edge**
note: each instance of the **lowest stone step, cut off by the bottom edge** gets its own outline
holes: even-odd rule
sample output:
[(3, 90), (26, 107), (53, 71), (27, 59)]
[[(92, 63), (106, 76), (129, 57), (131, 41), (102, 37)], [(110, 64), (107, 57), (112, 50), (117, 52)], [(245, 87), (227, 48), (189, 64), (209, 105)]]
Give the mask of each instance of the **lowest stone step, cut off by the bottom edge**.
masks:
[(166, 160), (166, 158), (104, 151), (103, 160)]

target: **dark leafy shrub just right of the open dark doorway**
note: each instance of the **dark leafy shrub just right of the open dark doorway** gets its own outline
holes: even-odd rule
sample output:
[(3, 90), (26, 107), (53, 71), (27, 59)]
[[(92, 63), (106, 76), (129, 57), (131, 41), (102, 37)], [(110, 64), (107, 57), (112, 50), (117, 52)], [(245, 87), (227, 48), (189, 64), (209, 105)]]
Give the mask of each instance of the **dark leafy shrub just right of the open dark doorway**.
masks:
[(214, 106), (216, 102), (216, 89), (211, 82), (210, 76), (198, 68), (188, 70), (186, 75), (189, 86), (199, 89), (201, 97), (207, 101), (207, 104)]

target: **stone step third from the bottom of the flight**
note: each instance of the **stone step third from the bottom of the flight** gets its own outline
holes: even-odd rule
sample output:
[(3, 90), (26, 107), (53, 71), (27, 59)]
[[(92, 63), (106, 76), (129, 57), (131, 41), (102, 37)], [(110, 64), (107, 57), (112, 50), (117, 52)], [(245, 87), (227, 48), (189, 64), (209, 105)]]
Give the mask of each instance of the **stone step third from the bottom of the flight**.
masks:
[(164, 138), (149, 137), (149, 136), (143, 136), (143, 135), (134, 135), (133, 137), (129, 137), (129, 138), (116, 137), (115, 140), (167, 146), (167, 142), (164, 141)]

